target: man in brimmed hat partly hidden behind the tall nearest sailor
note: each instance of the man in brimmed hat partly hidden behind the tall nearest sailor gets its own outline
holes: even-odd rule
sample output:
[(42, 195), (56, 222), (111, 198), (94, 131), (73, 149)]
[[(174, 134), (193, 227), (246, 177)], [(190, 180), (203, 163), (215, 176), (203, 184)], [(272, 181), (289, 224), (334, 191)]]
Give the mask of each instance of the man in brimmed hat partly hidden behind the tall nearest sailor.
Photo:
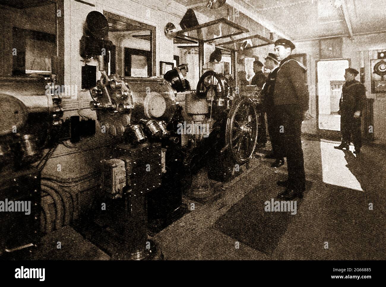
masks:
[(269, 138), (271, 140), (272, 152), (266, 158), (276, 159), (271, 165), (279, 167), (284, 164), (284, 158), (279, 156), (279, 126), (275, 115), (273, 92), (275, 89), (276, 73), (278, 72), (279, 60), (275, 54), (269, 53), (265, 59), (265, 67), (271, 70), (262, 90), (263, 107), (267, 114)]

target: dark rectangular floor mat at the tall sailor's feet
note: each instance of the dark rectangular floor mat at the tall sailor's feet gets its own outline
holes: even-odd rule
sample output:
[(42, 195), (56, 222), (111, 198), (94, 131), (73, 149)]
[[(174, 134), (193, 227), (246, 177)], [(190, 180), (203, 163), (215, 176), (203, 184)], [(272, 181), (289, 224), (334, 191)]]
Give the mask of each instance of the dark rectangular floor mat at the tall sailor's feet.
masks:
[[(307, 181), (306, 185), (306, 190), (310, 190), (311, 183)], [(291, 215), (291, 211), (265, 211), (265, 202), (271, 202), (271, 198), (261, 195), (259, 190), (262, 190), (262, 188), (266, 188), (266, 185), (257, 185), (225, 214), (220, 216), (214, 227), (240, 243), (247, 244), (267, 255), (272, 255), (281, 237), (286, 232), (293, 215)], [(276, 200), (279, 199), (274, 198), (274, 201)], [(296, 199), (296, 210), (300, 208), (301, 202), (302, 200)]]

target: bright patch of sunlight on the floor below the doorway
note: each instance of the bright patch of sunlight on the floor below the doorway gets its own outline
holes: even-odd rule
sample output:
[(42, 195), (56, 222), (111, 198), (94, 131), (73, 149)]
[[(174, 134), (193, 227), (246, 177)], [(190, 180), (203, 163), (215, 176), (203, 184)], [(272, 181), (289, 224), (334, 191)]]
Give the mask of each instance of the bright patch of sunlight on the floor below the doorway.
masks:
[[(337, 145), (339, 145), (338, 142), (320, 142), (323, 182), (363, 191), (359, 181), (346, 166), (347, 161), (344, 158), (344, 152), (334, 149)], [(354, 151), (354, 147), (350, 146), (350, 151)]]

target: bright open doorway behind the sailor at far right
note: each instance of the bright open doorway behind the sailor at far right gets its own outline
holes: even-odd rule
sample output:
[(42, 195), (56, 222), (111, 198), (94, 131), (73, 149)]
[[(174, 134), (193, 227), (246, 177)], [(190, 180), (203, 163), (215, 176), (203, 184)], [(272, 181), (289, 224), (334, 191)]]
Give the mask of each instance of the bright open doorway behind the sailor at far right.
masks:
[(339, 100), (349, 60), (317, 62), (318, 129), (340, 131)]

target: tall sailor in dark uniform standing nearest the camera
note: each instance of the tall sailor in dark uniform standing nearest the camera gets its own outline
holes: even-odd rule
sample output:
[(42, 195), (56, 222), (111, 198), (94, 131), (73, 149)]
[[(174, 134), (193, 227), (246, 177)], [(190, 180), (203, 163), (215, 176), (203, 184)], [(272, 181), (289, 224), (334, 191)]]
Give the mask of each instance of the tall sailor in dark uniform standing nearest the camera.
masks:
[(279, 121), (281, 157), (287, 157), (288, 180), (278, 181), (286, 189), (280, 198), (303, 197), (306, 176), (301, 149), (301, 123), (310, 119), (307, 68), (291, 57), (295, 45), (287, 39), (275, 42), (275, 55), (280, 60), (274, 88), (274, 105)]

